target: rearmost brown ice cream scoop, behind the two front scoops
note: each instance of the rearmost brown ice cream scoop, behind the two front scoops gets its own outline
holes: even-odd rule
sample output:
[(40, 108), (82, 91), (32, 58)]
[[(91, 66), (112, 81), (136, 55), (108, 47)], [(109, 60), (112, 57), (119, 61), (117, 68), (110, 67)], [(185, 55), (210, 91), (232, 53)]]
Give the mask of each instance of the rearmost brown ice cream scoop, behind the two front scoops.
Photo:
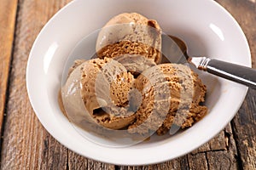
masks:
[[(160, 51), (160, 26), (155, 20), (148, 20), (137, 13), (123, 13), (114, 16), (103, 26), (96, 42), (96, 52), (99, 58), (115, 59), (130, 54), (134, 57), (131, 59), (133, 63), (145, 65), (143, 69), (160, 63)], [(137, 56), (145, 59), (139, 59)], [(130, 63), (128, 59), (119, 62), (124, 65)], [(132, 67), (132, 73), (142, 71), (142, 67), (137, 69), (137, 66), (139, 65)]]

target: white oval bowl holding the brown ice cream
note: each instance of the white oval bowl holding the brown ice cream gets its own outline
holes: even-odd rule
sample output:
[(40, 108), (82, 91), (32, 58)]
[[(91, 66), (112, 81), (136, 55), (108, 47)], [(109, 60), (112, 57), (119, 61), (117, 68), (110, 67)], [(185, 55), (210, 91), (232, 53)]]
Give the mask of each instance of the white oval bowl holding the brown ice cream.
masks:
[(57, 95), (68, 54), (84, 36), (124, 12), (137, 12), (158, 20), (164, 32), (187, 42), (189, 54), (251, 65), (250, 50), (240, 26), (212, 0), (75, 0), (49, 20), (33, 44), (26, 70), (32, 107), (40, 122), (61, 144), (97, 161), (143, 165), (183, 156), (212, 139), (230, 122), (247, 94), (246, 87), (200, 73), (208, 88), (207, 116), (175, 136), (154, 137), (123, 148), (84, 139), (59, 109)]

